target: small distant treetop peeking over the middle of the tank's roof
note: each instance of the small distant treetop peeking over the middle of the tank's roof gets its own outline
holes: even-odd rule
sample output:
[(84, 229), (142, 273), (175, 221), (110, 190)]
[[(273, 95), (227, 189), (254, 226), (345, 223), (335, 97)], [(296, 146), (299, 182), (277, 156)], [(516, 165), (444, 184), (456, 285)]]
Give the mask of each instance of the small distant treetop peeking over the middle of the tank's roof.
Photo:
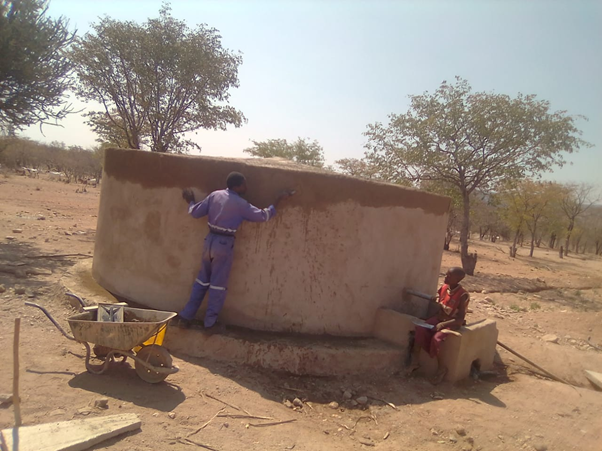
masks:
[(324, 167), (324, 149), (318, 141), (309, 138), (297, 138), (289, 144), (286, 139), (268, 139), (267, 141), (251, 141), (253, 147), (243, 152), (259, 158), (286, 158), (295, 163), (306, 164), (318, 168)]

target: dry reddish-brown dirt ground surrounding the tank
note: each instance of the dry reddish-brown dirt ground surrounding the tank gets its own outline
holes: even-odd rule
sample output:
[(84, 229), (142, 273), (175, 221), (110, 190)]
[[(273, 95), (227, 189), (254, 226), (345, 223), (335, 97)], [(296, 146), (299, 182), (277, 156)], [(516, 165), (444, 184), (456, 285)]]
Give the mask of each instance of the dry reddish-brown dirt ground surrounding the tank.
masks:
[[(0, 294), (0, 393), (11, 392), (13, 321), (21, 317), (25, 424), (137, 413), (140, 432), (94, 448), (112, 450), (602, 449), (602, 393), (583, 377), (584, 369), (602, 372), (599, 258), (560, 260), (537, 249), (531, 259), (521, 249), (512, 260), (504, 243), (472, 243), (479, 263), (465, 283), (473, 299), (470, 321), (495, 318), (500, 341), (576, 386), (541, 377), (501, 348), (499, 376), (437, 387), (421, 377), (293, 377), (177, 357), (180, 372), (149, 385), (129, 364), (88, 374), (82, 346), (23, 304), (39, 302), (63, 324), (75, 312), (57, 281), (91, 255), (99, 200), (98, 188), (77, 189), (0, 176), (0, 284), (6, 290)], [(36, 258), (48, 254), (80, 255)], [(457, 253), (444, 254), (443, 268), (458, 263)], [(25, 293), (17, 294), (19, 288)], [(542, 340), (546, 334), (558, 343)], [(352, 406), (344, 391), (368, 397), (367, 404)], [(93, 407), (99, 398), (108, 399), (108, 409)], [(283, 404), (294, 398), (301, 407)], [(333, 401), (338, 408), (329, 406)], [(285, 420), (295, 421), (265, 425)], [(12, 407), (1, 408), (0, 428), (12, 424)]]

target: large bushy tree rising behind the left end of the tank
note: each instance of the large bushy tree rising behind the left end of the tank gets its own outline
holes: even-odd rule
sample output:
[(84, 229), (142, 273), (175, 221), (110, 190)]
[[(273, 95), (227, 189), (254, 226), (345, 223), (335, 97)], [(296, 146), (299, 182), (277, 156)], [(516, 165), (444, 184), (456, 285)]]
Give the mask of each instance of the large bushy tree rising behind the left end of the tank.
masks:
[(184, 152), (198, 147), (186, 133), (245, 121), (228, 105), (242, 58), (222, 47), (216, 29), (190, 29), (167, 4), (142, 25), (105, 17), (91, 28), (71, 58), (77, 95), (104, 107), (90, 120), (101, 138), (108, 130), (130, 148), (148, 138), (154, 152)]

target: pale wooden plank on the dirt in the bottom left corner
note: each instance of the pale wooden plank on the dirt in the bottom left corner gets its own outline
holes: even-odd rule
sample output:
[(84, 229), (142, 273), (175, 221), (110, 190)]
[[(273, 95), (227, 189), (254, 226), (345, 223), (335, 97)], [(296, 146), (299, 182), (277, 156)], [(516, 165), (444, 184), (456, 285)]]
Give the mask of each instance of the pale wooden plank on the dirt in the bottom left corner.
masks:
[(2, 451), (82, 451), (140, 429), (134, 413), (4, 429)]

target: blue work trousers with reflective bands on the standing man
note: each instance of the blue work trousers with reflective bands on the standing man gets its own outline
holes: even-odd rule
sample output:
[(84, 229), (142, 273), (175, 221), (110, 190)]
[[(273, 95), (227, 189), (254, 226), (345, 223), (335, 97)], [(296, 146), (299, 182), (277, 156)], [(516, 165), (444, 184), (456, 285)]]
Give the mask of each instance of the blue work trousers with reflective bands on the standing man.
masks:
[(192, 286), (190, 299), (180, 316), (184, 319), (194, 319), (203, 298), (209, 290), (205, 327), (211, 327), (217, 321), (219, 312), (224, 306), (228, 279), (234, 257), (234, 237), (209, 233), (203, 246), (201, 270)]

